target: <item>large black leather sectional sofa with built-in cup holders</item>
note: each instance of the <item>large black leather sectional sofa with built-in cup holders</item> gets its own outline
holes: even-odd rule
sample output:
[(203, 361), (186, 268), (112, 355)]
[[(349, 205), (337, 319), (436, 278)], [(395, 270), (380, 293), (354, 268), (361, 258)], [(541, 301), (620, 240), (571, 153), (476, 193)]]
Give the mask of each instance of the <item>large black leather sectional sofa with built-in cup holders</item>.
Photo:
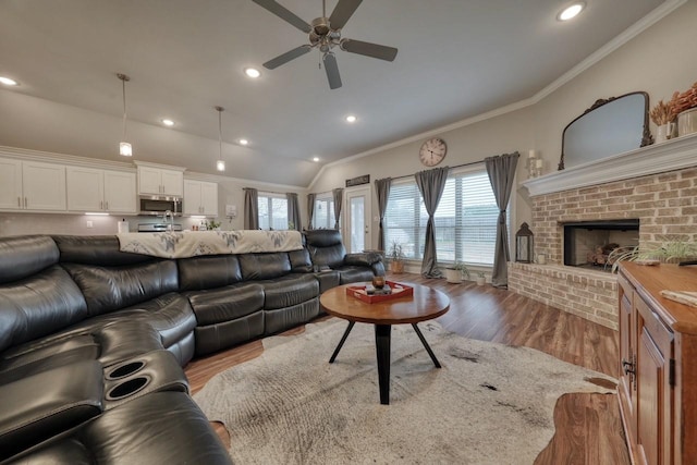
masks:
[(182, 259), (120, 252), (117, 236), (1, 237), (0, 462), (230, 463), (182, 367), (383, 273), (331, 230), (299, 250)]

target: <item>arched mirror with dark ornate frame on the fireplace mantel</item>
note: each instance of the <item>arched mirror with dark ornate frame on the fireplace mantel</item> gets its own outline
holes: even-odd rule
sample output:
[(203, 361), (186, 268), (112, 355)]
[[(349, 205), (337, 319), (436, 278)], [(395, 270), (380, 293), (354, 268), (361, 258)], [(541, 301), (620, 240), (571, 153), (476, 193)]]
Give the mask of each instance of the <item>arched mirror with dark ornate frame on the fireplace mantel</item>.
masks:
[(647, 93), (596, 100), (564, 129), (559, 169), (634, 150), (652, 142)]

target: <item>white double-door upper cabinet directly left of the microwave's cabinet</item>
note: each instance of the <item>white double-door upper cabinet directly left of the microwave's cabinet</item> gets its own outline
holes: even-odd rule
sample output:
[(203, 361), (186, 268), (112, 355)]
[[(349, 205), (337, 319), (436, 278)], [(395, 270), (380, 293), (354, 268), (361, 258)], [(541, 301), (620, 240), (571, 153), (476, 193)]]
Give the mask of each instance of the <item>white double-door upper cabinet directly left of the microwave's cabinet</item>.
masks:
[(68, 167), (68, 209), (136, 213), (135, 173)]

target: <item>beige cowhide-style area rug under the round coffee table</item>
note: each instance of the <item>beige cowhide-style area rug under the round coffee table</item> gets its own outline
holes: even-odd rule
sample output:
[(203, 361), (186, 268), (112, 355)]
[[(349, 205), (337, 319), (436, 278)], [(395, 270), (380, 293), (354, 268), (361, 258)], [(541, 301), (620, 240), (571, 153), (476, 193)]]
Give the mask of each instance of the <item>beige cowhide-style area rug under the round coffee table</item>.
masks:
[[(390, 405), (379, 403), (371, 325), (331, 319), (264, 340), (258, 358), (213, 377), (194, 400), (230, 433), (235, 464), (531, 464), (568, 392), (616, 380), (539, 351), (420, 323), (392, 328)], [(602, 382), (600, 383), (602, 384)], [(610, 384), (612, 386), (612, 384)]]

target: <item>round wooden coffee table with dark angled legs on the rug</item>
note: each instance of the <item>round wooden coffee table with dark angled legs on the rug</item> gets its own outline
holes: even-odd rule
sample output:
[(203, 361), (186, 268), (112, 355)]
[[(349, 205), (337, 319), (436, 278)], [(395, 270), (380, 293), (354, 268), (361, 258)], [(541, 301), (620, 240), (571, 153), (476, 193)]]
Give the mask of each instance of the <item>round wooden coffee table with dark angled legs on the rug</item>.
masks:
[(348, 320), (348, 327), (339, 341), (329, 363), (334, 363), (344, 345), (353, 326), (358, 322), (375, 325), (375, 345), (378, 360), (378, 382), (380, 386), (380, 403), (390, 403), (390, 340), (392, 325), (411, 323), (424, 344), (424, 348), (433, 360), (436, 368), (440, 363), (424, 334), (418, 329), (419, 321), (438, 318), (450, 309), (450, 299), (445, 294), (425, 285), (404, 283), (414, 287), (414, 295), (369, 304), (346, 294), (347, 286), (367, 283), (344, 284), (332, 287), (319, 297), (319, 303), (329, 315)]

